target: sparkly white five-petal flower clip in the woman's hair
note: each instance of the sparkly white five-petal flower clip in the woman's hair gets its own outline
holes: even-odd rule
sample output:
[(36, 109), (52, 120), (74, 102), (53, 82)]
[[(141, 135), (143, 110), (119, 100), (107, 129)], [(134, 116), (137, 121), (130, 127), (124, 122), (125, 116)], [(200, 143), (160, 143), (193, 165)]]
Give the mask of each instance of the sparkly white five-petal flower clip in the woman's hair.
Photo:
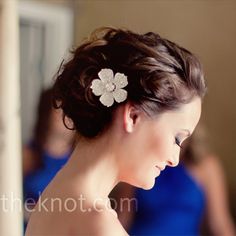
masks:
[(127, 76), (122, 73), (114, 73), (111, 69), (101, 69), (99, 79), (94, 79), (90, 88), (96, 96), (100, 96), (100, 102), (107, 107), (113, 105), (114, 100), (118, 103), (127, 98), (127, 91), (123, 88), (128, 84)]

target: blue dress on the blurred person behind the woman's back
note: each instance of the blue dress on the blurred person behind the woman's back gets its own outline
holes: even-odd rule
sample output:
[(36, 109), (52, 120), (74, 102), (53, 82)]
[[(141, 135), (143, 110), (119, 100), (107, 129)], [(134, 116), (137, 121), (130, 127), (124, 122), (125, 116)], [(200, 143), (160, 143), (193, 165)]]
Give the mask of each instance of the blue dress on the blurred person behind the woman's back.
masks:
[(67, 162), (71, 151), (61, 157), (53, 157), (47, 152), (42, 153), (42, 167), (24, 178), (24, 198), (38, 200), (56, 173)]

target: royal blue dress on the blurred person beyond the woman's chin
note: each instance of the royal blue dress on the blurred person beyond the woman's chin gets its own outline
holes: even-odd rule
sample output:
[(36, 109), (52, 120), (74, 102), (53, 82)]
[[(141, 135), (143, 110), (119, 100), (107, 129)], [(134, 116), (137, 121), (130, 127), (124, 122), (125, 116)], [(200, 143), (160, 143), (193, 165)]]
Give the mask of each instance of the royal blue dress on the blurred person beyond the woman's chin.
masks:
[(130, 235), (199, 235), (205, 208), (202, 188), (183, 165), (166, 168), (151, 190), (136, 190)]

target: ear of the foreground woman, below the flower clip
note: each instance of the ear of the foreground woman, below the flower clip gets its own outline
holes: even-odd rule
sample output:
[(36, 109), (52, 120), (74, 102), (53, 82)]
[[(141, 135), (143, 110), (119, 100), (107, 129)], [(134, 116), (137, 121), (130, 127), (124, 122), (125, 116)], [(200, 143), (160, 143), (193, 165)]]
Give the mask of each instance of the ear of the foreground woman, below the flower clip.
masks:
[(128, 133), (132, 133), (141, 120), (142, 112), (131, 103), (126, 103), (123, 111), (124, 129)]

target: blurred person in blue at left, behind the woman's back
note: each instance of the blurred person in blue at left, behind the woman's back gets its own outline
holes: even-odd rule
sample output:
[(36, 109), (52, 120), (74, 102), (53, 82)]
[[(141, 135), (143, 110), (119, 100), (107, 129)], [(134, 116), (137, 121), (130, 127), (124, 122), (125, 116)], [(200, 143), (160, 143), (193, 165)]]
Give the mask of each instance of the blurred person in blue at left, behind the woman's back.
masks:
[(52, 89), (42, 91), (33, 137), (23, 147), (25, 223), (40, 194), (70, 157), (74, 140), (74, 131), (62, 122), (62, 112), (52, 107)]

